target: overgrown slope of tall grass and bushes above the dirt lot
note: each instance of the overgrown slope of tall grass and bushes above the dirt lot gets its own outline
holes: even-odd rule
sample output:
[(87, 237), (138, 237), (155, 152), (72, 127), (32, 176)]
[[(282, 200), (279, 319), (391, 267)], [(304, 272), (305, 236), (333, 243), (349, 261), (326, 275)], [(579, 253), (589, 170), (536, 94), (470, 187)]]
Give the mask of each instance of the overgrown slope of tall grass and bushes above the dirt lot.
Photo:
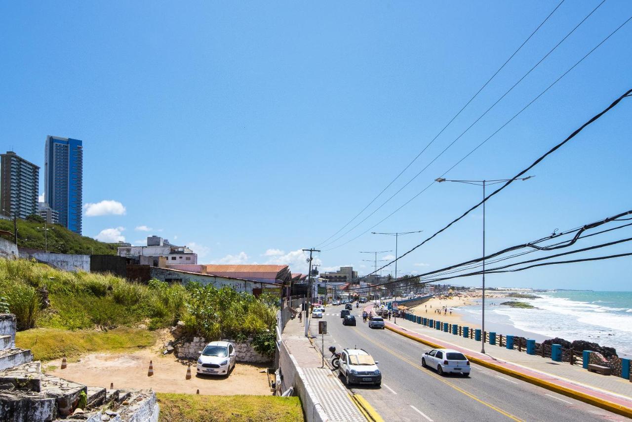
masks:
[[(46, 287), (51, 306), (42, 306)], [(208, 340), (255, 338), (255, 348), (274, 352), (277, 299), (255, 298), (228, 287), (186, 287), (150, 280), (130, 283), (109, 274), (71, 273), (24, 259), (0, 259), (0, 312), (16, 314), (18, 330), (86, 330), (101, 326), (172, 326), (185, 322), (193, 335)]]

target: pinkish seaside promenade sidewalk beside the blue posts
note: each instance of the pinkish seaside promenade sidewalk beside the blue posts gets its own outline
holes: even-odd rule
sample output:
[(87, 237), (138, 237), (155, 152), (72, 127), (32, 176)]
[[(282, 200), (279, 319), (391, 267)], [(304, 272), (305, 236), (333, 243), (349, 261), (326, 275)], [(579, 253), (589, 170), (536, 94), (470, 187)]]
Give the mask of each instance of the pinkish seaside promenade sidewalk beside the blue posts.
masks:
[[(386, 322), (387, 328), (407, 337), (422, 340), (446, 349), (455, 349), (482, 364), (500, 366), (524, 378), (535, 378), (545, 383), (590, 395), (617, 406), (628, 407), (632, 412), (632, 383), (617, 376), (604, 376), (589, 372), (579, 365), (554, 362), (551, 359), (529, 355), (498, 345), (485, 344), (485, 354), (480, 353), (480, 342), (435, 330), (412, 321), (397, 319)], [(518, 376), (518, 378), (522, 378)], [(564, 394), (564, 393), (562, 393)], [(568, 395), (568, 394), (567, 394)], [(574, 397), (578, 398), (578, 397)], [(581, 400), (581, 399), (580, 399)], [(585, 400), (584, 400), (585, 401)], [(594, 404), (594, 403), (592, 403)]]

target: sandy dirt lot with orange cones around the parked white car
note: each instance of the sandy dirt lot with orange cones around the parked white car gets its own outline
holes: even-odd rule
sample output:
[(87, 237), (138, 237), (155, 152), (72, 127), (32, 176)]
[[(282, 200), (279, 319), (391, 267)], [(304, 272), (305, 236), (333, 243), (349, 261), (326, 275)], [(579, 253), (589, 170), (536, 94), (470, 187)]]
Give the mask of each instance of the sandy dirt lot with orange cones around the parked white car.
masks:
[[(149, 361), (154, 363), (154, 375), (147, 376)], [(270, 395), (265, 366), (237, 363), (228, 377), (196, 375), (191, 365), (191, 379), (186, 380), (186, 363), (159, 350), (144, 349), (133, 353), (95, 353), (68, 362), (60, 369), (61, 360), (42, 364), (49, 374), (94, 387), (153, 388), (156, 392), (208, 395)], [(54, 367), (54, 369), (53, 369)], [(261, 372), (263, 371), (263, 372)]]

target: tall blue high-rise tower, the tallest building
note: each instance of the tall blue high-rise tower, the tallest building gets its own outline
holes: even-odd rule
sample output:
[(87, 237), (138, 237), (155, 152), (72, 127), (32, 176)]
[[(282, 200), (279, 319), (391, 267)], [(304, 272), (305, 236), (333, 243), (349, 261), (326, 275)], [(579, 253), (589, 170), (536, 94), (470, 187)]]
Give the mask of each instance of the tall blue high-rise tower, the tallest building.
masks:
[(44, 202), (59, 224), (82, 232), (83, 145), (78, 139), (46, 137)]

